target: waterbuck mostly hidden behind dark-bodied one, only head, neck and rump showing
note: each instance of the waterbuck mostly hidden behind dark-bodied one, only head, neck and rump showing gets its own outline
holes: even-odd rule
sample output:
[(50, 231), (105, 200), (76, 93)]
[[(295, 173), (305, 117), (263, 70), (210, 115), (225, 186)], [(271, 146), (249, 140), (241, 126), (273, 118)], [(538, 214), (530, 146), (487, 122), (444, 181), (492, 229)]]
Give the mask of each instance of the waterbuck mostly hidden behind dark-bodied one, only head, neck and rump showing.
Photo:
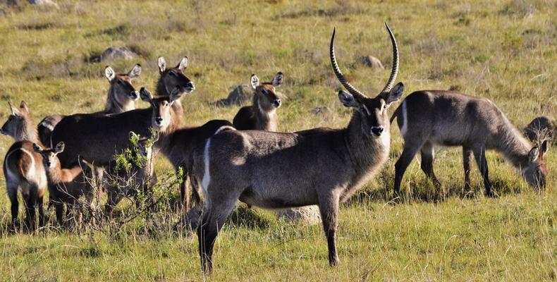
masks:
[[(109, 80), (109, 93), (103, 111), (95, 114), (120, 114), (135, 109), (135, 100), (139, 92), (131, 84), (132, 80), (141, 74), (141, 65), (137, 63), (128, 73), (116, 73), (110, 66), (104, 69), (104, 75)], [(64, 118), (62, 115), (46, 116), (37, 126), (39, 139), (43, 144), (50, 144), (50, 135), (56, 124)]]

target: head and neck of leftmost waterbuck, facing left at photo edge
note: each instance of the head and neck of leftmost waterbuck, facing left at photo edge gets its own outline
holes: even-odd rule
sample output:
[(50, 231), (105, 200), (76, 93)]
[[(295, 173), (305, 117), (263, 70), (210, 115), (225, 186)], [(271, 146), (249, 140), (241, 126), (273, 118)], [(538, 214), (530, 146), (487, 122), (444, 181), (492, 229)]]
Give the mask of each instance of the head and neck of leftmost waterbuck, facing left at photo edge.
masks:
[(28, 135), (35, 132), (35, 125), (33, 125), (31, 114), (27, 108), (27, 104), (22, 101), (19, 108), (16, 108), (8, 102), (11, 114), (2, 128), (0, 133), (9, 135), (15, 140), (28, 140)]

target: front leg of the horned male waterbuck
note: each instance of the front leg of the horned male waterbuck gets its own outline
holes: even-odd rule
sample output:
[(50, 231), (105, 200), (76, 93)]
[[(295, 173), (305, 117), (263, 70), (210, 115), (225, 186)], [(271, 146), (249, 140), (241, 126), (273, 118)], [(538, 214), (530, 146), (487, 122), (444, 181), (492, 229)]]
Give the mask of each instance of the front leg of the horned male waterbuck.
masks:
[(336, 252), (336, 226), (338, 217), (338, 194), (328, 194), (319, 197), (319, 212), (323, 221), (323, 228), (329, 247), (329, 264), (338, 264), (338, 254)]

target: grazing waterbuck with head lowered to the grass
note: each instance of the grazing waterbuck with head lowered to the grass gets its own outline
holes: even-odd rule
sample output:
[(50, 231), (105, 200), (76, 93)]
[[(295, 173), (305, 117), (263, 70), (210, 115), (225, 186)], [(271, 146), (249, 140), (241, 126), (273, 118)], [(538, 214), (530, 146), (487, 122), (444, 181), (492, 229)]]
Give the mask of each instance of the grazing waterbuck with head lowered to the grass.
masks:
[(533, 147), (489, 99), (443, 90), (417, 91), (404, 99), (391, 122), (394, 118), (404, 138), (403, 153), (395, 165), (397, 194), (404, 172), (417, 152), (422, 154), (422, 171), (435, 185), (440, 185), (433, 170), (434, 145), (463, 147), (466, 191), (470, 190), (473, 154), (484, 178), (485, 194), (494, 197), (485, 156), (487, 149), (502, 152), (532, 187), (545, 185), (547, 142), (540, 148)]

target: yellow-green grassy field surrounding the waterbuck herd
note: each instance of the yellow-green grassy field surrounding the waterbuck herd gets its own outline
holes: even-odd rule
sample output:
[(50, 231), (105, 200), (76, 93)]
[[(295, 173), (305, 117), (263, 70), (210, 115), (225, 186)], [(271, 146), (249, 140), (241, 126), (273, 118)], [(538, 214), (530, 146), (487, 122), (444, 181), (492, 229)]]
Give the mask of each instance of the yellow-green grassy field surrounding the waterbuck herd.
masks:
[[(0, 4), (2, 121), (9, 113), (6, 102), (22, 99), (37, 122), (47, 114), (102, 109), (106, 63), (91, 59), (107, 47), (126, 46), (140, 56), (110, 65), (128, 71), (141, 63), (135, 85), (152, 90), (158, 56), (169, 64), (188, 56), (186, 74), (197, 90), (182, 98), (186, 125), (231, 120), (238, 106), (216, 107), (216, 100), (247, 84), (252, 73), (270, 80), (282, 71), (280, 91), (287, 98), (279, 109), (281, 130), (343, 127), (350, 109), (336, 96), (340, 85), (329, 63), (331, 32), (336, 26), (337, 58), (345, 75), (374, 95), (391, 66), (384, 21), (398, 40), (397, 81), (405, 83), (406, 94), (452, 89), (487, 97), (517, 126), (541, 114), (557, 116), (554, 0), (56, 2), (59, 9)], [(357, 63), (366, 55), (379, 58), (386, 69)], [(326, 110), (312, 113), (318, 106)], [(391, 159), (384, 170), (341, 208), (341, 264), (334, 268), (327, 264), (321, 226), (285, 223), (261, 210), (252, 223), (240, 208), (219, 235), (209, 277), (200, 271), (197, 236), (173, 232), (178, 214), (168, 213), (137, 219), (116, 231), (3, 231), (0, 280), (557, 280), (554, 148), (546, 159), (550, 174), (544, 192), (527, 187), (501, 154), (490, 152), (490, 176), (501, 196), (482, 196), (474, 167), (475, 197), (464, 197), (461, 150), (438, 148), (434, 166), (446, 193), (435, 190), (416, 160), (403, 181), (405, 200), (392, 204), (394, 163), (402, 148), (396, 126), (392, 135)], [(12, 142), (2, 137), (0, 152)], [(159, 160), (159, 171), (169, 169), (166, 160)], [(9, 218), (8, 197), (2, 196), (3, 226)]]

